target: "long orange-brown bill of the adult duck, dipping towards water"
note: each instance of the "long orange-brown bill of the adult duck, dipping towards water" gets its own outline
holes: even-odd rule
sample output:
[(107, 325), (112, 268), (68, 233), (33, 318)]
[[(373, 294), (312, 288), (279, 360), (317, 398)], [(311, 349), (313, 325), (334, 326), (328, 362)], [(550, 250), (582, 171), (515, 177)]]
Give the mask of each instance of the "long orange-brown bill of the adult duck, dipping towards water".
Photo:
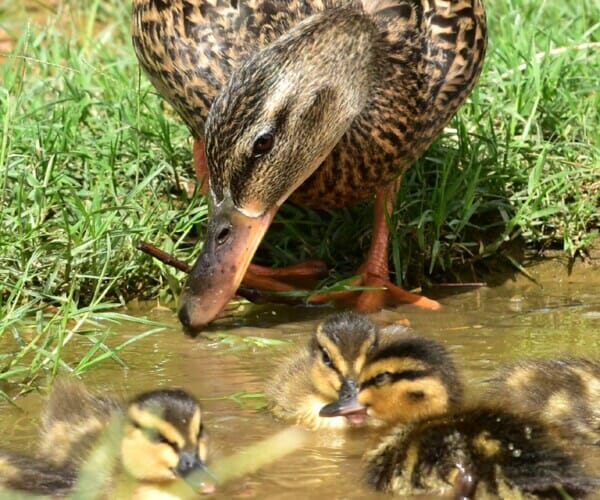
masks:
[(194, 335), (210, 323), (235, 295), (277, 208), (252, 216), (230, 198), (213, 206), (202, 252), (180, 297), (186, 333)]

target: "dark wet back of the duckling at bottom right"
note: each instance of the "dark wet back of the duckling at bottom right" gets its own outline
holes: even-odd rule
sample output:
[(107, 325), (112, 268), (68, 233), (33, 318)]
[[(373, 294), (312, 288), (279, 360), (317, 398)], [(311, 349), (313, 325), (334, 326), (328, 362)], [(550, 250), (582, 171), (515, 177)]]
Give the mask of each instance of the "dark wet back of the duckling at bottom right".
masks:
[(368, 461), (369, 483), (403, 495), (558, 499), (600, 487), (543, 425), (493, 408), (402, 427)]

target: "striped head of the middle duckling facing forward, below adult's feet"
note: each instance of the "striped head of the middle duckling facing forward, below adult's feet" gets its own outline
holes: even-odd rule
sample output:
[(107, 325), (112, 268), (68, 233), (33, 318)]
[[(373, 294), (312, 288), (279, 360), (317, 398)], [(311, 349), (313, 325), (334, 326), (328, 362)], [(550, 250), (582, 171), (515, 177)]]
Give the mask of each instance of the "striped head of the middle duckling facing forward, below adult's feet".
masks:
[[(331, 402), (356, 398), (358, 375), (378, 343), (379, 330), (366, 316), (340, 313), (321, 323), (309, 347), (310, 380), (319, 397)], [(357, 412), (348, 418), (360, 424), (365, 417)]]

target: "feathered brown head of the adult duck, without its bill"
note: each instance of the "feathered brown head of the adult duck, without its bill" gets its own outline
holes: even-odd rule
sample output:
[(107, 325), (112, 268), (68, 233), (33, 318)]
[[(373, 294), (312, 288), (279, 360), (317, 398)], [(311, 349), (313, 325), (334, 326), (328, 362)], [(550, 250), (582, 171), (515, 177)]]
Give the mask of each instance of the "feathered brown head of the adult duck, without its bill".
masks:
[[(285, 182), (264, 187), (261, 195), (267, 206), (279, 205), (319, 167), (369, 102), (383, 60), (379, 36), (363, 12), (328, 9), (297, 24), (232, 74), (206, 122), (217, 199), (229, 186), (242, 206), (250, 198), (248, 186), (256, 184), (248, 179), (268, 178), (270, 169), (282, 165)], [(241, 173), (226, 168), (231, 152), (241, 157), (237, 151), (248, 150), (263, 130), (286, 151), (274, 151), (268, 164), (255, 163)]]

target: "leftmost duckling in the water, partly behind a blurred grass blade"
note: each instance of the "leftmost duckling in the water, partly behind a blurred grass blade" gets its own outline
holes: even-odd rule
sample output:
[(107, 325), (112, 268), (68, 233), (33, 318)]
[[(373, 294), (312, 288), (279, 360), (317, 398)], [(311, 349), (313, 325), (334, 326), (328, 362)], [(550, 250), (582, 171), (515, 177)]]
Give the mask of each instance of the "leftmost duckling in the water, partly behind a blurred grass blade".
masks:
[[(70, 379), (55, 383), (42, 417), (36, 456), (0, 455), (0, 473), (7, 478), (3, 484), (61, 494), (81, 480), (86, 467), (95, 466), (93, 455), (99, 447), (104, 450), (100, 456), (110, 458), (102, 462), (106, 468), (94, 474), (101, 491), (124, 484), (127, 495), (152, 499), (169, 498), (170, 492), (181, 491), (192, 496), (214, 487), (210, 475), (202, 472), (206, 435), (202, 412), (190, 394), (160, 389), (124, 403), (96, 396)], [(11, 467), (13, 473), (5, 474)], [(190, 476), (195, 476), (194, 489), (182, 481)]]

